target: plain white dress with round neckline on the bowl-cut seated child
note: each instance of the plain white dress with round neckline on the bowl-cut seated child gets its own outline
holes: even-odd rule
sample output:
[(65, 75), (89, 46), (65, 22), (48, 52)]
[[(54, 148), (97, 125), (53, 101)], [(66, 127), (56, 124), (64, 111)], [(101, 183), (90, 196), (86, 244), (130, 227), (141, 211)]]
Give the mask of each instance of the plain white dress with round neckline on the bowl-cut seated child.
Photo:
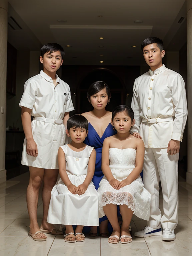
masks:
[[(80, 152), (68, 145), (61, 146), (65, 153), (66, 172), (72, 184), (79, 186), (86, 178), (93, 147)], [(61, 178), (53, 187), (47, 222), (52, 224), (99, 226), (98, 193), (91, 181), (83, 195), (74, 195)]]

